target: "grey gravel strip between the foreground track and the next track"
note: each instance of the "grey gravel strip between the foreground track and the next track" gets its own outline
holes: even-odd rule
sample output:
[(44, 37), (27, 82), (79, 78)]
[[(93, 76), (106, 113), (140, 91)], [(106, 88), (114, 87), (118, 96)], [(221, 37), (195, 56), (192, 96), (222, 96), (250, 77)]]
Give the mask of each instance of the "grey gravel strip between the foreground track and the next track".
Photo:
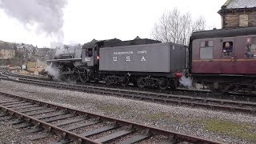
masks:
[[(4, 80), (0, 84), (2, 91), (11, 94), (150, 126), (158, 126), (183, 134), (191, 134), (226, 143), (256, 142), (256, 116), (250, 114), (162, 105)], [(5, 126), (1, 125), (0, 128), (2, 129), (2, 127)], [(20, 137), (20, 134), (15, 134), (17, 134), (17, 138)]]

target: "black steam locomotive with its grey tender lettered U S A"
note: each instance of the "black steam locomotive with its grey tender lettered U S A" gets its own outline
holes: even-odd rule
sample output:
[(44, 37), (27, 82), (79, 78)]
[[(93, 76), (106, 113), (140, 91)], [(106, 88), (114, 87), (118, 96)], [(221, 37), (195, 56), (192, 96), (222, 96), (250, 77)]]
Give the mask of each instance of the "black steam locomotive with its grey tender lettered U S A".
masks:
[[(78, 55), (78, 54), (76, 54)], [(185, 68), (186, 47), (151, 39), (131, 41), (110, 39), (82, 46), (81, 58), (47, 61), (57, 68), (62, 79), (77, 82), (105, 81), (106, 85), (176, 89)]]

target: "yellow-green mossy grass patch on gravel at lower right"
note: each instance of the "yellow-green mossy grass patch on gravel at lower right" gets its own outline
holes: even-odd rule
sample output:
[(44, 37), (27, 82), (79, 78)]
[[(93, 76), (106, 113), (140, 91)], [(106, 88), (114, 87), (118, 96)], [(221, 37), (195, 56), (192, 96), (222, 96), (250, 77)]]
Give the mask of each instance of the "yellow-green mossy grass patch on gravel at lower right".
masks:
[(211, 119), (206, 121), (204, 125), (206, 130), (256, 142), (256, 126), (250, 124), (224, 122), (217, 119)]

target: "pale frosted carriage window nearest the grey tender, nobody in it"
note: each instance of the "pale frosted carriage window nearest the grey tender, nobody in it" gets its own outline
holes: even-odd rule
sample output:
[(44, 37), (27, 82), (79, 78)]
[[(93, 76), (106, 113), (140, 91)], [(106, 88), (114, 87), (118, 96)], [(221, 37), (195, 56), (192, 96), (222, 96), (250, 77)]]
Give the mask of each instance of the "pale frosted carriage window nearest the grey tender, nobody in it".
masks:
[(201, 59), (214, 58), (214, 41), (202, 41), (200, 43), (200, 58)]

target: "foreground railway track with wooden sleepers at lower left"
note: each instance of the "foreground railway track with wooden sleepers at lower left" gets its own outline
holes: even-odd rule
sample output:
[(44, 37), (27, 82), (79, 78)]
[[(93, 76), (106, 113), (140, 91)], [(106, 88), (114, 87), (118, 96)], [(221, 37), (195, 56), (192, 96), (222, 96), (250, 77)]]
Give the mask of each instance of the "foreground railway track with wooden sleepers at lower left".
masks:
[(74, 110), (0, 91), (0, 121), (54, 143), (220, 143), (126, 120)]

